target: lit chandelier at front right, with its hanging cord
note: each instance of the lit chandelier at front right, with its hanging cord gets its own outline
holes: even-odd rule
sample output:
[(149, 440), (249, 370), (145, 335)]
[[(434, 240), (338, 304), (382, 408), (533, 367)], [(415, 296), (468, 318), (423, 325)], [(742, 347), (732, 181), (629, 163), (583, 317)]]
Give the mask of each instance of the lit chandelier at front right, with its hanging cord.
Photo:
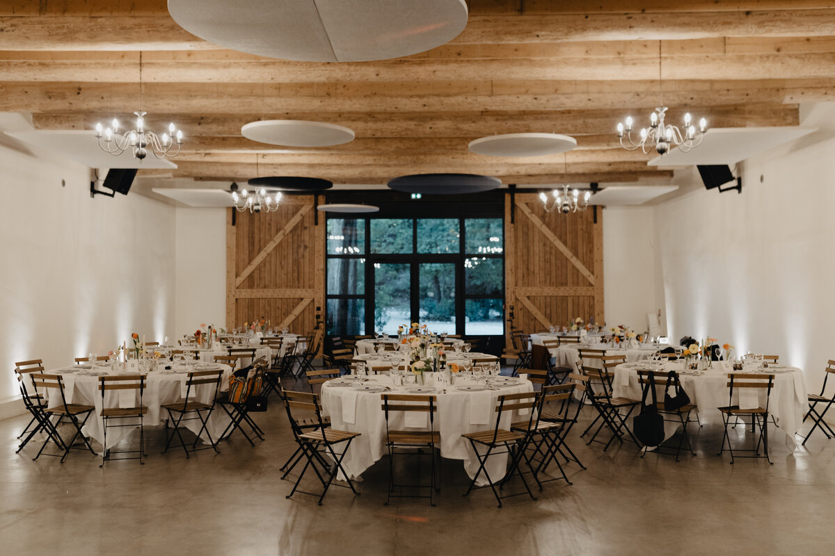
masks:
[(701, 145), (701, 142), (705, 139), (705, 132), (707, 131), (707, 120), (705, 118), (699, 120), (698, 129), (693, 125), (690, 113), (684, 115), (684, 128), (679, 128), (664, 121), (668, 108), (664, 106), (660, 41), (658, 42), (658, 88), (660, 91), (661, 106), (655, 108), (655, 112), (650, 113), (650, 127), (641, 128), (640, 138), (633, 138), (632, 133), (635, 129), (632, 127), (632, 117), (627, 116), (625, 123), (618, 123), (620, 146), (627, 151), (634, 151), (640, 148), (644, 154), (650, 153), (650, 150), (655, 148), (655, 151), (664, 155), (669, 153), (672, 147), (678, 147), (679, 150), (687, 153), (692, 148)]

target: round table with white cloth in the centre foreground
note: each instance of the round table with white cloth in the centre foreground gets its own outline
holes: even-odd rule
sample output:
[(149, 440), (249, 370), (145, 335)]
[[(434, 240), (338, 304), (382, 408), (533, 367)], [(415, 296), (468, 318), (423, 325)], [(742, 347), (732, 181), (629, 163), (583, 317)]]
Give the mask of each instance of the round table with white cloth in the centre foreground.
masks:
[[(381, 403), (383, 393), (437, 396), (438, 411), (433, 419), (433, 429), (441, 435), (438, 447), (441, 456), (462, 460), (464, 470), (473, 478), (478, 472), (478, 458), (470, 443), (461, 435), (495, 428), (498, 396), (533, 392), (534, 389), (533, 384), (524, 378), (496, 377), (495, 385), (488, 386), (484, 379), (477, 380), (467, 373), (455, 373), (453, 384), (448, 384), (440, 382), (442, 373), (425, 373), (425, 386), (416, 392), (414, 388), (420, 388), (420, 385), (414, 383), (412, 373), (405, 378), (405, 384), (400, 384), (400, 378), (391, 374), (367, 377), (348, 375), (322, 385), (322, 408), (330, 416), (331, 426), (361, 434), (354, 439), (342, 461), (352, 479), (359, 477), (387, 453), (386, 417)], [(367, 389), (369, 387), (371, 390)], [(509, 428), (511, 421), (518, 421), (523, 414), (527, 414), (527, 410), (523, 413), (505, 413), (501, 426)], [(392, 430), (429, 430), (428, 413), (392, 412), (389, 418)], [(507, 460), (506, 453), (490, 456), (486, 465), (490, 477), (494, 480), (502, 477)], [(482, 473), (478, 484), (486, 483)]]

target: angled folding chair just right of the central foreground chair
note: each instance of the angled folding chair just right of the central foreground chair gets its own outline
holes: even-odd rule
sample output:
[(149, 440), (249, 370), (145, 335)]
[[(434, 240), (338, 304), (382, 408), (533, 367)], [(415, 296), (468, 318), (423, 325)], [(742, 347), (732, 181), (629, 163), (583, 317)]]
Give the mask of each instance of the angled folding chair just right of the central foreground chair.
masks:
[[(467, 438), (469, 440), (470, 445), (473, 448), (473, 453), (475, 453), (476, 458), (478, 458), (478, 471), (475, 473), (475, 476), (473, 476), (473, 480), (470, 481), (469, 488), (467, 489), (467, 492), (464, 493), (464, 496), (471, 493), (473, 488), (484, 488), (475, 486), (478, 477), (484, 473), (484, 478), (487, 479), (488, 486), (493, 490), (493, 495), (496, 497), (498, 507), (501, 508), (503, 498), (510, 498), (512, 496), (524, 494), (524, 492), (506, 494), (504, 496), (499, 496), (498, 494), (496, 486), (498, 485), (499, 488), (504, 487), (504, 483), (507, 483), (509, 478), (513, 477), (515, 473), (522, 479), (525, 491), (527, 491), (530, 498), (532, 500), (536, 499), (534, 497), (534, 493), (531, 492), (530, 487), (528, 486), (528, 481), (525, 480), (524, 474), (519, 469), (519, 463), (523, 458), (530, 467), (530, 462), (527, 459), (524, 448), (529, 442), (530, 430), (536, 427), (535, 423), (537, 419), (534, 417), (535, 412), (533, 410), (534, 407), (536, 407), (536, 397), (537, 394), (534, 392), (511, 393), (499, 396), (494, 410), (496, 413), (495, 428), (461, 435), (463, 438)], [(512, 413), (519, 410), (527, 410), (529, 412), (527, 429), (522, 431), (519, 429), (510, 430), (509, 428), (502, 428), (502, 418), (504, 417), (504, 413)], [(512, 419), (513, 415), (509, 415), (509, 418)], [(485, 448), (484, 453), (480, 453), (478, 451), (479, 446)], [(503, 474), (502, 478), (498, 479), (498, 481), (494, 481), (487, 472), (485, 465), (490, 456), (501, 453), (509, 455), (510, 465), (508, 470)]]

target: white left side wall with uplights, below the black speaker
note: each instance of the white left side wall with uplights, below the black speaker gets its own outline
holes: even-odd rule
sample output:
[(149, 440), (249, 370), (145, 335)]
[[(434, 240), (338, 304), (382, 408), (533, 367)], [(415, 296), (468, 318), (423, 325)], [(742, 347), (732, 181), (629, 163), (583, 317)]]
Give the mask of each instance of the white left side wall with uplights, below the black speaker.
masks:
[(161, 339), (175, 303), (174, 208), (90, 198), (88, 168), (2, 142), (0, 403), (19, 398), (14, 362), (54, 368), (132, 332)]

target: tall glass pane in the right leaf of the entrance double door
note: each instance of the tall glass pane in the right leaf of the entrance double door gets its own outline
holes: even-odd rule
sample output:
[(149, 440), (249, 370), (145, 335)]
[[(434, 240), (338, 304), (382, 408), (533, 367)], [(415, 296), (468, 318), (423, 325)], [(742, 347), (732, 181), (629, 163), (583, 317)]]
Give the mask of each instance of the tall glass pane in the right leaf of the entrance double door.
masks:
[(455, 333), (455, 263), (420, 265), (420, 323), (433, 332)]

